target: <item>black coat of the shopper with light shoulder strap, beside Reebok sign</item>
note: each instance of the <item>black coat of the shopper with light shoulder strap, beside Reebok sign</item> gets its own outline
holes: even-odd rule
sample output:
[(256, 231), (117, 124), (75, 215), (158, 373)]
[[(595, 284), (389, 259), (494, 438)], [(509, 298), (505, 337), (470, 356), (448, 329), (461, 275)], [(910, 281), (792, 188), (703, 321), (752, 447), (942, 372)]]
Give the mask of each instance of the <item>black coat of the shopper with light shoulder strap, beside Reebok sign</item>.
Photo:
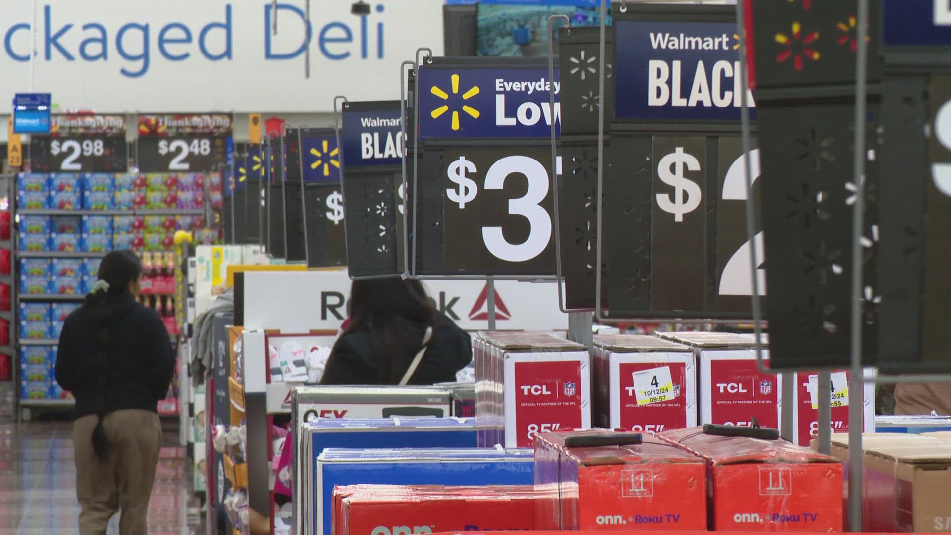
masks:
[[(418, 344), (406, 350), (402, 362), (413, 360), (422, 347), (424, 330), (419, 329)], [(321, 385), (379, 385), (379, 365), (372, 348), (370, 331), (349, 330), (344, 333), (323, 372)], [(433, 385), (456, 381), (456, 371), (466, 367), (473, 358), (472, 338), (444, 314), (437, 313), (436, 327), (429, 348), (423, 353), (410, 385)], [(401, 370), (400, 376), (405, 373)], [(385, 383), (383, 383), (385, 384)]]

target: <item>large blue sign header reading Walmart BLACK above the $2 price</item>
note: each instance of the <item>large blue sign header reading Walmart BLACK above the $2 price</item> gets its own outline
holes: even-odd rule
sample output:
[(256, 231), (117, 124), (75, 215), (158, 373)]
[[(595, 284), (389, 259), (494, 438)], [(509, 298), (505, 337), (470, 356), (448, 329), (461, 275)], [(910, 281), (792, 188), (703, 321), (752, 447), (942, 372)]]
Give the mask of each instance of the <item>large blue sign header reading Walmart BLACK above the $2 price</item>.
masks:
[(615, 21), (614, 40), (617, 119), (740, 120), (735, 24)]

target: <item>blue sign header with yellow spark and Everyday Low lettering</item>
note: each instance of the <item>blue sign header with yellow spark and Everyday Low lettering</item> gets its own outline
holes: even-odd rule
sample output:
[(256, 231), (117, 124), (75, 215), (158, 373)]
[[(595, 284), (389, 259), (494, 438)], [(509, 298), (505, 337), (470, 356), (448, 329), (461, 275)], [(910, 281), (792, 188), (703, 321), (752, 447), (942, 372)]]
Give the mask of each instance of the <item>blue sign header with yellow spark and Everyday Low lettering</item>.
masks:
[(419, 68), (419, 137), (550, 137), (561, 130), (561, 84), (548, 69)]

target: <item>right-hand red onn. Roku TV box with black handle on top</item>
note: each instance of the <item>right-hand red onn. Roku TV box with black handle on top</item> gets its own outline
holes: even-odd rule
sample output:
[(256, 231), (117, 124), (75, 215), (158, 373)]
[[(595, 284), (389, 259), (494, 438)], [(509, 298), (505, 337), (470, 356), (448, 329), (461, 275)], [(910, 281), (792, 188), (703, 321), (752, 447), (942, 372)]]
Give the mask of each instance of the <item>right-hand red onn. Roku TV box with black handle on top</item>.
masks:
[(833, 457), (784, 440), (714, 436), (700, 428), (657, 437), (707, 461), (710, 529), (843, 529), (843, 467)]

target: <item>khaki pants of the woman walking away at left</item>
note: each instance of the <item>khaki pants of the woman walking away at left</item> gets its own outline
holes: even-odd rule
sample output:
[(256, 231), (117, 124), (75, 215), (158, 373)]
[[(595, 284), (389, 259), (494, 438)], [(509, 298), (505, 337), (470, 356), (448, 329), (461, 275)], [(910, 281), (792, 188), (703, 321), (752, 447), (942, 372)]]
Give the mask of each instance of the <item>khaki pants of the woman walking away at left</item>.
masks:
[(162, 446), (162, 422), (147, 410), (117, 410), (103, 419), (109, 440), (107, 459), (92, 449), (93, 414), (73, 423), (76, 447), (76, 496), (81, 535), (104, 535), (109, 519), (122, 510), (119, 532), (146, 535), (148, 499)]

